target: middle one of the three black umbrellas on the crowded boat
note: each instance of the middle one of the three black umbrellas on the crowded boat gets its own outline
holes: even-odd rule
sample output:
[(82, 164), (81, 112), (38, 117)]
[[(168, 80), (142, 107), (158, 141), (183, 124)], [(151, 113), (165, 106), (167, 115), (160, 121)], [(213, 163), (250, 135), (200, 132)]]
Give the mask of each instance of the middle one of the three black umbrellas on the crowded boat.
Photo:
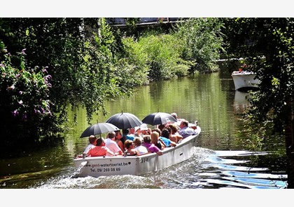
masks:
[(135, 126), (140, 126), (142, 124), (142, 121), (134, 114), (123, 112), (114, 114), (107, 119), (106, 122), (112, 123), (118, 128), (134, 128)]

